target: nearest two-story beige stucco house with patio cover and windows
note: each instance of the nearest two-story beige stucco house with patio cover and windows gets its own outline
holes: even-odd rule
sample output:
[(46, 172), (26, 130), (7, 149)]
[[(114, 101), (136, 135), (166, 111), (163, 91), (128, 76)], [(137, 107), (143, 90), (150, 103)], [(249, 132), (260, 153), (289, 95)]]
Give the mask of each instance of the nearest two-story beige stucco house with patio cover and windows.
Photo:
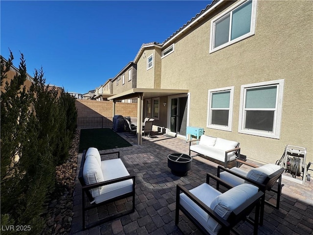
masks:
[[(142, 118), (185, 138), (186, 127), (240, 142), (275, 163), (286, 145), (313, 162), (313, 1), (213, 1), (163, 43), (135, 56)], [(142, 100), (142, 101), (141, 101)]]

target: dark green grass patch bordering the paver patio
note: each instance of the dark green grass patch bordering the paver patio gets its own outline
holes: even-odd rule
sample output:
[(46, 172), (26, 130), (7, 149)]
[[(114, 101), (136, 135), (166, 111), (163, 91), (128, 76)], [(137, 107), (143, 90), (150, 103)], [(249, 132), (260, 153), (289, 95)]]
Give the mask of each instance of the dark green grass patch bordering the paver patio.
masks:
[(82, 129), (80, 131), (78, 152), (81, 153), (84, 149), (87, 150), (89, 147), (105, 150), (129, 146), (132, 146), (132, 144), (124, 140), (110, 128)]

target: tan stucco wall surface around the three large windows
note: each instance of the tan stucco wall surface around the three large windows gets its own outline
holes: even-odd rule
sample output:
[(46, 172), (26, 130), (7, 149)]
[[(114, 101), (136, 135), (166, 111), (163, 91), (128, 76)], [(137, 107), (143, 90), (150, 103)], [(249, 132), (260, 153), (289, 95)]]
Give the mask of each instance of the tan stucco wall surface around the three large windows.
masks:
[[(161, 88), (189, 89), (189, 125), (240, 142), (248, 158), (275, 163), (287, 144), (313, 161), (313, 1), (259, 1), (255, 35), (209, 54), (210, 20), (162, 59)], [(238, 133), (241, 85), (285, 79), (279, 140)], [(206, 128), (209, 89), (234, 86), (231, 132)]]

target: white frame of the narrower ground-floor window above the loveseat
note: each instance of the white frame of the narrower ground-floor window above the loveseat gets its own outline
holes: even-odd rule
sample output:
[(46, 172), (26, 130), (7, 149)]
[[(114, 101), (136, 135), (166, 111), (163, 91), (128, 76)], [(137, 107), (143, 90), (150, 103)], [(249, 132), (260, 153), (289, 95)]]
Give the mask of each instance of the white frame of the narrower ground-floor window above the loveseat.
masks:
[[(219, 93), (219, 92), (230, 92), (230, 98), (229, 98), (229, 114), (228, 114), (228, 125), (217, 125), (212, 124), (212, 108), (211, 108), (211, 102), (212, 102), (212, 94), (213, 93)], [(233, 122), (233, 103), (234, 103), (234, 87), (224, 87), (224, 88), (218, 88), (218, 89), (211, 89), (208, 91), (208, 98), (207, 98), (207, 119), (206, 119), (206, 127), (211, 129), (217, 129), (217, 130), (223, 130), (223, 131), (232, 131), (232, 122)], [(227, 109), (225, 109), (227, 110)]]

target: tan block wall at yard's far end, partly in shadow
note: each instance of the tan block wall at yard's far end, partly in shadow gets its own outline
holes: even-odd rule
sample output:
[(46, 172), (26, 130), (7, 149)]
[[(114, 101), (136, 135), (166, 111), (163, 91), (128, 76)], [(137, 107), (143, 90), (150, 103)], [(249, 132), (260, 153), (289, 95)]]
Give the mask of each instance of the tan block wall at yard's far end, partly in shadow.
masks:
[[(77, 99), (75, 105), (78, 113), (77, 118), (112, 117), (112, 101)], [(116, 102), (115, 114), (124, 117), (137, 117), (137, 103)]]

